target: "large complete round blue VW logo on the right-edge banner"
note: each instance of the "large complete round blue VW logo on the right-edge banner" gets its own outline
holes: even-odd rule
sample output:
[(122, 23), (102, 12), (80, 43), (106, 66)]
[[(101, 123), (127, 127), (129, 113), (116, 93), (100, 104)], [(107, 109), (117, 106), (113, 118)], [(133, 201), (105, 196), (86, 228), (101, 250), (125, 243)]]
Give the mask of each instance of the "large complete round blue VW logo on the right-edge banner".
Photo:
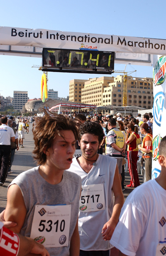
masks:
[(153, 103), (153, 116), (155, 119), (155, 123), (158, 126), (161, 126), (163, 105), (164, 105), (164, 97), (165, 94), (163, 92), (159, 92), (155, 95), (154, 103)]

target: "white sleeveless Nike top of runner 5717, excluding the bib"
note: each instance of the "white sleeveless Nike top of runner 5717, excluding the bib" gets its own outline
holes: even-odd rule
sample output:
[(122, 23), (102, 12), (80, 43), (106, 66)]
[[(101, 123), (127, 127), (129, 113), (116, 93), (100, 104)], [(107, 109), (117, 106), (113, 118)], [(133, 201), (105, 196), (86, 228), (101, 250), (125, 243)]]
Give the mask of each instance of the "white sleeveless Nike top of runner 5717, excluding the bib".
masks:
[(82, 178), (82, 186), (104, 184), (105, 209), (101, 211), (79, 212), (79, 236), (81, 250), (109, 250), (112, 248), (109, 241), (104, 241), (101, 231), (104, 224), (109, 221), (113, 212), (113, 180), (117, 160), (99, 154), (96, 166), (89, 173), (73, 158), (68, 171), (74, 172)]

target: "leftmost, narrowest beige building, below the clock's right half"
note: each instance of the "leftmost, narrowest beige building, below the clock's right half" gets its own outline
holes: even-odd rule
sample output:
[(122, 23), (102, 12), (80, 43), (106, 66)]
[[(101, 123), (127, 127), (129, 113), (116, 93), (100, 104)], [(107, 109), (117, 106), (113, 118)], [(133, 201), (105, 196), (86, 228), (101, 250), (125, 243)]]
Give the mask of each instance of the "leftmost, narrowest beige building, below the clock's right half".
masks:
[(81, 103), (81, 93), (87, 80), (73, 79), (69, 84), (69, 101)]

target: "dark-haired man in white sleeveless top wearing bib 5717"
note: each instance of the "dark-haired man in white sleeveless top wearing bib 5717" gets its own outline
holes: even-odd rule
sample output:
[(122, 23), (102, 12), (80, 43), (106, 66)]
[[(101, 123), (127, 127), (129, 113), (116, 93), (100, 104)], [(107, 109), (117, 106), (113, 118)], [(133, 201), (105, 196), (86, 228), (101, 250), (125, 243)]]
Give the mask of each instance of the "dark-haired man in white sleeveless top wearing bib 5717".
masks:
[(69, 169), (82, 178), (79, 204), (80, 256), (109, 256), (109, 240), (124, 203), (117, 160), (97, 154), (103, 137), (101, 125), (85, 122), (79, 128), (82, 156), (74, 158)]

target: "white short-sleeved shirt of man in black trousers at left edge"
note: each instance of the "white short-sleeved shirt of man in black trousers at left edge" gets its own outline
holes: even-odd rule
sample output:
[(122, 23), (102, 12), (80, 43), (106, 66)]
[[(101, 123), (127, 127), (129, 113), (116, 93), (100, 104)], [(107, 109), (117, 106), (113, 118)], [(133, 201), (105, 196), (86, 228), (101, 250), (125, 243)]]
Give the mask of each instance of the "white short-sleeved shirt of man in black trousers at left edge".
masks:
[(0, 145), (11, 145), (11, 137), (15, 137), (14, 131), (8, 125), (0, 125)]

